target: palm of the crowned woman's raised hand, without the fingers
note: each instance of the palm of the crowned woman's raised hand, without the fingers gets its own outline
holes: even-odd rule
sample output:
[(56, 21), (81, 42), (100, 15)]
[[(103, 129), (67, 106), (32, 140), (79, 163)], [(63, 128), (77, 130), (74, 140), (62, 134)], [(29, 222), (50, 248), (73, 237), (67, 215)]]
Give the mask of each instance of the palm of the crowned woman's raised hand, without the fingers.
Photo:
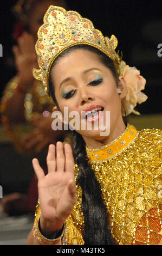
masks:
[(73, 210), (75, 197), (69, 197), (68, 182), (74, 179), (74, 174), (52, 172), (38, 182), (40, 207), (42, 217), (52, 220), (66, 219)]

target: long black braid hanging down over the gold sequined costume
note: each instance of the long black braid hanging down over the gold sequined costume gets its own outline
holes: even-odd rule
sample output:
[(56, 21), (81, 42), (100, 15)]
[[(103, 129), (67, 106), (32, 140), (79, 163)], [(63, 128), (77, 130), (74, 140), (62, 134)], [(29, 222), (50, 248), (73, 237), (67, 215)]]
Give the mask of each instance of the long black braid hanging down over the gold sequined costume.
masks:
[(111, 245), (107, 209), (101, 197), (100, 184), (87, 161), (85, 141), (76, 131), (73, 131), (73, 137), (75, 162), (79, 167), (77, 182), (82, 188), (83, 240), (85, 245)]

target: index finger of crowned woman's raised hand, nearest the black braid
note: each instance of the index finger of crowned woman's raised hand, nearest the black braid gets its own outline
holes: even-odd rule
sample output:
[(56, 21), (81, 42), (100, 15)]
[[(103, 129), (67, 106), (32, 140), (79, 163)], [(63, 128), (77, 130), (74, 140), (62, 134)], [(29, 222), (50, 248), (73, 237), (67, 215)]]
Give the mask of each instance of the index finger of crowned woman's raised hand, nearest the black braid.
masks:
[(65, 172), (74, 173), (74, 157), (73, 151), (70, 144), (66, 143), (64, 145), (64, 154), (65, 154)]

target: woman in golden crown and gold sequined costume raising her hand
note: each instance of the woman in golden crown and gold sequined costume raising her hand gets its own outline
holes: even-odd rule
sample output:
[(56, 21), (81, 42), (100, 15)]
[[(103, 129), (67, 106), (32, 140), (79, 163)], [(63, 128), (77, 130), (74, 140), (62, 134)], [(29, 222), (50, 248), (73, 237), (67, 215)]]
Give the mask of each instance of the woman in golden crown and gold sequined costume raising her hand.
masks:
[[(92, 129), (73, 131), (74, 158), (69, 144), (50, 145), (47, 175), (33, 160), (39, 202), (28, 245), (160, 243), (160, 131), (138, 132), (122, 119), (147, 99), (140, 92), (146, 81), (121, 61), (116, 46), (115, 36), (104, 39), (75, 11), (51, 6), (44, 16), (34, 76), (57, 110), (76, 111), (79, 124), (84, 119)], [(106, 127), (107, 112), (109, 135), (101, 136), (95, 123), (103, 117)]]

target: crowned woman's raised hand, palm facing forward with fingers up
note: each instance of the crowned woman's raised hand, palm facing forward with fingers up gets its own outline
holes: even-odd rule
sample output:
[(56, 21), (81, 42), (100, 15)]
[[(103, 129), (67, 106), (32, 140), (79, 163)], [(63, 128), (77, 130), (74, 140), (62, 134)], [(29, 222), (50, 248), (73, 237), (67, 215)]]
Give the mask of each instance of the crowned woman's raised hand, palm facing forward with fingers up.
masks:
[(62, 142), (57, 142), (56, 150), (55, 145), (49, 145), (47, 166), (48, 174), (44, 175), (38, 160), (33, 160), (38, 178), (41, 229), (52, 234), (62, 228), (76, 203), (74, 159), (70, 145), (65, 144), (64, 151)]

